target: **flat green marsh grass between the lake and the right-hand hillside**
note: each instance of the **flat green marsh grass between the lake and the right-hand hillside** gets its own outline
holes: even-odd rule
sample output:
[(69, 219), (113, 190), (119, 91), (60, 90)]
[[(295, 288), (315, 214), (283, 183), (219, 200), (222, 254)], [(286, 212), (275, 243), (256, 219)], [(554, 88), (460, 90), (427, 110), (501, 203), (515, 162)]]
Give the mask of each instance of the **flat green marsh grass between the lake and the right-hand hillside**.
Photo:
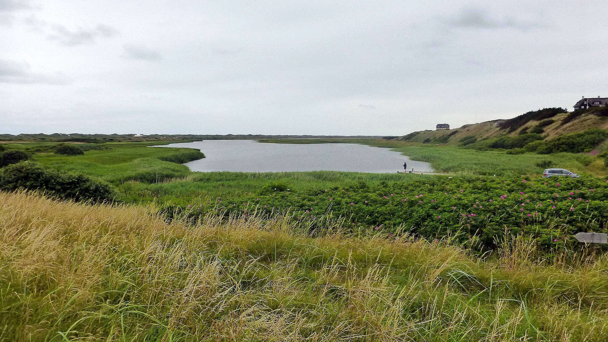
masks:
[(606, 176), (604, 159), (584, 154), (536, 153), (506, 154), (506, 151), (477, 151), (450, 145), (406, 143), (384, 139), (275, 139), (260, 140), (267, 143), (360, 143), (369, 146), (390, 148), (401, 152), (412, 160), (430, 163), (441, 173), (478, 174), (497, 176), (539, 175), (546, 166), (537, 163), (548, 161), (553, 167), (567, 168), (575, 173)]

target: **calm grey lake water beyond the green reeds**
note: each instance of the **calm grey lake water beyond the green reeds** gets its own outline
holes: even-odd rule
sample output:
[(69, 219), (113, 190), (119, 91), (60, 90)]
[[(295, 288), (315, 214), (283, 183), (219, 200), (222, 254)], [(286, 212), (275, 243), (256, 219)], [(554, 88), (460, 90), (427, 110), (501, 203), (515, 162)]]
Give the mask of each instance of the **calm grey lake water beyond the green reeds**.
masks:
[(186, 163), (192, 171), (354, 171), (396, 173), (407, 169), (433, 171), (429, 163), (415, 162), (387, 148), (358, 144), (274, 144), (254, 140), (204, 140), (162, 147), (198, 148), (204, 159)]

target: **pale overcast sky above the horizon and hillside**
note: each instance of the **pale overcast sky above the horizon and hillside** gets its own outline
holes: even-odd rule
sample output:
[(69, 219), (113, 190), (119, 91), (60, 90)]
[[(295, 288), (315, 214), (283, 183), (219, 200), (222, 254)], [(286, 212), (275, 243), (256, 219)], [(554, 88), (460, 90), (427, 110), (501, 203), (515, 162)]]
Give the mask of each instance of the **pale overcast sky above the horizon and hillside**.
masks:
[(603, 1), (0, 0), (0, 133), (404, 135), (608, 97)]

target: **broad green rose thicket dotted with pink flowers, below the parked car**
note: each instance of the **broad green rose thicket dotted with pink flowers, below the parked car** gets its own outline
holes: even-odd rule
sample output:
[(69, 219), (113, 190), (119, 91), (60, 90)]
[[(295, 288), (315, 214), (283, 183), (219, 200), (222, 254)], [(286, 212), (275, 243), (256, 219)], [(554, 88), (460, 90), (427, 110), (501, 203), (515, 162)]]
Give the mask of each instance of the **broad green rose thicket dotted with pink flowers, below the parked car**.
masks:
[(348, 188), (277, 192), (217, 199), (187, 207), (171, 206), (196, 218), (209, 213), (289, 213), (314, 231), (328, 215), (347, 220), (347, 232), (367, 230), (387, 236), (404, 233), (433, 239), (447, 235), (480, 239), (495, 248), (505, 234), (527, 234), (547, 250), (564, 247), (576, 231), (606, 231), (608, 182), (597, 177), (550, 179), (427, 179), (380, 182)]

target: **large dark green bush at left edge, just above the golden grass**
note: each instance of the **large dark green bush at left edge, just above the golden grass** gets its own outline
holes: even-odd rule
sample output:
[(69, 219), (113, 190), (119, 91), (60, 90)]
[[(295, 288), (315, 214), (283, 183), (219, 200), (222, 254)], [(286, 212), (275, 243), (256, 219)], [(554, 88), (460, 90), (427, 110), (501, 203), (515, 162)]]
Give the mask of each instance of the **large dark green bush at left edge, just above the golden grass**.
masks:
[(21, 162), (2, 169), (0, 190), (41, 190), (61, 199), (111, 202), (116, 194), (106, 182), (82, 174), (44, 168), (35, 162)]

